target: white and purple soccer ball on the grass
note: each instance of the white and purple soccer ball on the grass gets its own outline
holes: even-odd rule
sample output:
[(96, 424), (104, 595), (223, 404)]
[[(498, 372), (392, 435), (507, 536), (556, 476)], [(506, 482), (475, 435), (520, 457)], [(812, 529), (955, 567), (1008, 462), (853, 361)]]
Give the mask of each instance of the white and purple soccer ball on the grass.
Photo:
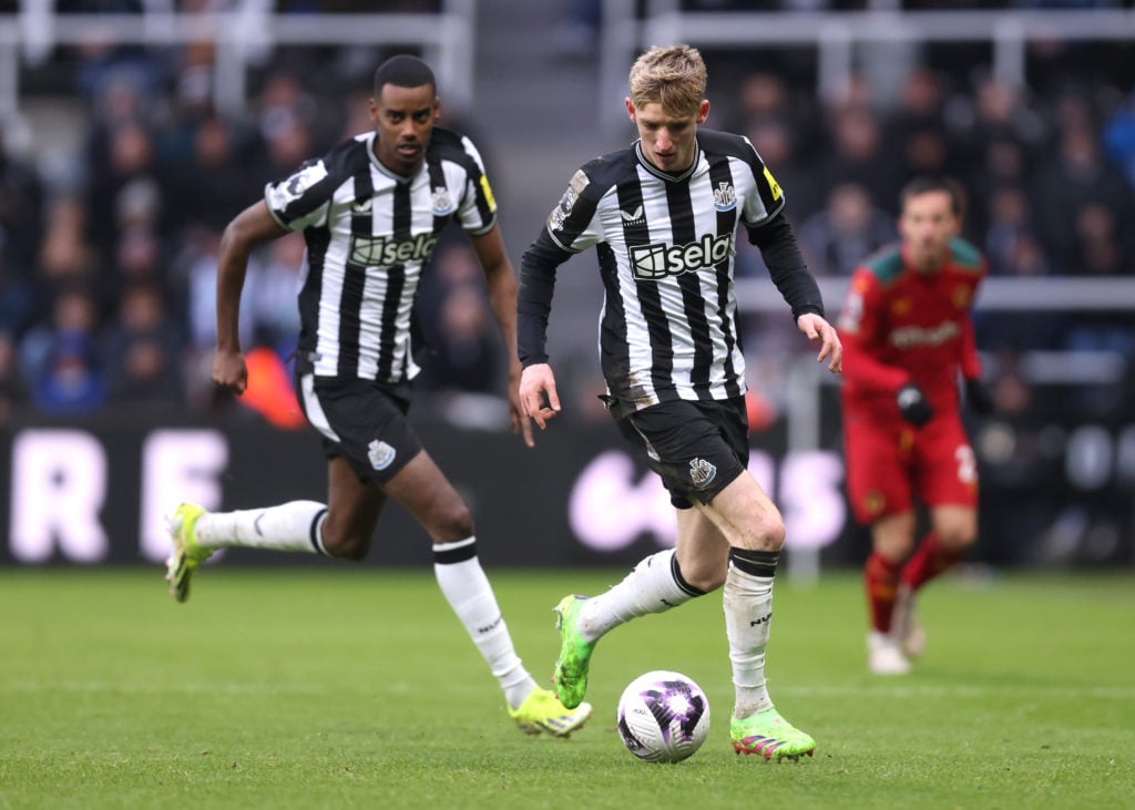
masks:
[(619, 736), (646, 762), (681, 762), (709, 733), (709, 701), (681, 673), (658, 669), (628, 684), (619, 699)]

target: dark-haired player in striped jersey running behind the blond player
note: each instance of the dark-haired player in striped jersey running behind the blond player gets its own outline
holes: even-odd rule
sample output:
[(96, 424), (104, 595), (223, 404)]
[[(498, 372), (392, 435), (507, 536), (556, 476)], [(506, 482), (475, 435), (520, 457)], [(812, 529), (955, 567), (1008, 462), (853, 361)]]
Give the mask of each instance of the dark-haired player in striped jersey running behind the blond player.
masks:
[(182, 504), (169, 526), (170, 592), (185, 601), (192, 575), (220, 548), (360, 560), (393, 499), (429, 534), (438, 585), (499, 682), (512, 718), (527, 733), (566, 736), (583, 725), (590, 707), (565, 709), (521, 664), (478, 560), (469, 507), (406, 419), (419, 371), (411, 337), (418, 282), (439, 234), (456, 221), (480, 260), (513, 358), (513, 429), (532, 444), (518, 391), (516, 279), (496, 202), (472, 142), (435, 127), (440, 104), (429, 66), (393, 57), (375, 73), (373, 91), (375, 130), (269, 183), (264, 199), (225, 229), (218, 259), (212, 381), (243, 394), (249, 370), (238, 322), (249, 254), (289, 231), (306, 239), (296, 389), (323, 438), (327, 504), (295, 500), (226, 513)]

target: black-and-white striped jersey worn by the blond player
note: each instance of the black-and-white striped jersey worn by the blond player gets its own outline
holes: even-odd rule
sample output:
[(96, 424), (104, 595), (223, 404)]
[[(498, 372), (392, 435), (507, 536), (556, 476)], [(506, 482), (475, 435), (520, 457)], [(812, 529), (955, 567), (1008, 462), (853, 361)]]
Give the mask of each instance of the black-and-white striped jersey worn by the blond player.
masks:
[(734, 233), (776, 217), (784, 197), (747, 138), (700, 129), (697, 141), (681, 175), (653, 167), (638, 143), (590, 161), (547, 221), (560, 248), (597, 248), (599, 354), (616, 413), (746, 391)]

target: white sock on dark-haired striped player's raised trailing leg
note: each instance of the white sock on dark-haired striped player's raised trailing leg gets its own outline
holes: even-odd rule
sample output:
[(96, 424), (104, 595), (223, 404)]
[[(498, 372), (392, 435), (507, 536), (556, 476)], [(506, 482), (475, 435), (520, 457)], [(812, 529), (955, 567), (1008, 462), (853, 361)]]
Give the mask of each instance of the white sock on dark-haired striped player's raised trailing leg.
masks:
[(327, 506), (293, 500), (263, 509), (207, 512), (194, 528), (202, 548), (269, 548), (323, 554), (319, 537)]

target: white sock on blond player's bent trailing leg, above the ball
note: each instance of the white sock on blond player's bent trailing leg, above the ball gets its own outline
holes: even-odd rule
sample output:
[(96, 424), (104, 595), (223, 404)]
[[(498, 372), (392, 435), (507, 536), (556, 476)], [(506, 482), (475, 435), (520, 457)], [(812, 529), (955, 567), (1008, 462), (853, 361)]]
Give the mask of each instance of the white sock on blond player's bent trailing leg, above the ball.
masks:
[(641, 559), (617, 585), (583, 602), (577, 625), (580, 635), (585, 641), (597, 641), (632, 618), (663, 613), (704, 596), (704, 591), (680, 577), (673, 549)]

